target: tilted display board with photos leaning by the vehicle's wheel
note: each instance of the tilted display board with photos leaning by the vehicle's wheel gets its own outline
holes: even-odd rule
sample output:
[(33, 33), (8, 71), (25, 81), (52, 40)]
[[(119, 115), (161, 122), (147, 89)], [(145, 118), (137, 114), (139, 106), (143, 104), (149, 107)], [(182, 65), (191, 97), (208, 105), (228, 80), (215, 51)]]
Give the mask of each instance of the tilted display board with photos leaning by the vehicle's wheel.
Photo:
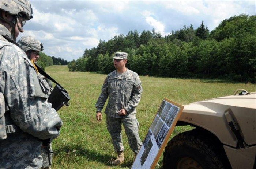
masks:
[(153, 169), (184, 106), (164, 99), (132, 164), (131, 169)]

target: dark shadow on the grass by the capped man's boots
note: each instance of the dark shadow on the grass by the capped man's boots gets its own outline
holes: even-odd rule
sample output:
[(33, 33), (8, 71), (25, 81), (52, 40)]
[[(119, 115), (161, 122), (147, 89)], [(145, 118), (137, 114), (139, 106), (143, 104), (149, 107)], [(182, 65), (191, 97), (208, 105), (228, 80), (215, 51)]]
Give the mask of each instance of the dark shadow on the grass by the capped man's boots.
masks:
[[(104, 148), (102, 148), (104, 149)], [(76, 146), (63, 146), (57, 147), (54, 149), (54, 155), (59, 156), (60, 158), (64, 158), (68, 161), (79, 161), (86, 159), (87, 161), (96, 161), (102, 163), (105, 166), (112, 166), (112, 161), (115, 160), (116, 154), (112, 156), (112, 154), (102, 154), (94, 150), (89, 150), (87, 148), (83, 148), (80, 145)], [(133, 161), (125, 161), (123, 164), (119, 165), (121, 168), (130, 168), (132, 166)]]

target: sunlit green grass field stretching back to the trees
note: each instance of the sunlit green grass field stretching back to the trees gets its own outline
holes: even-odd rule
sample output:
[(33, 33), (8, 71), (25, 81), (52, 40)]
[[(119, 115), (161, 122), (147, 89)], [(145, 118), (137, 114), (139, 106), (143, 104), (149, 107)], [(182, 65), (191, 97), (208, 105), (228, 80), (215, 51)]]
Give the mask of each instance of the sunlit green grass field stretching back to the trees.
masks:
[[(46, 72), (69, 93), (70, 106), (62, 107), (59, 115), (64, 122), (60, 137), (53, 141), (52, 169), (129, 169), (133, 152), (123, 132), (125, 162), (116, 167), (110, 160), (116, 158), (110, 135), (106, 129), (105, 114), (102, 122), (95, 118), (95, 103), (106, 75), (91, 72), (69, 72), (67, 66), (46, 67)], [(255, 84), (229, 83), (223, 80), (175, 79), (140, 76), (143, 94), (137, 108), (142, 141), (164, 98), (188, 104), (203, 99), (233, 95), (237, 89), (256, 91)], [(172, 137), (190, 127), (176, 127)], [(161, 169), (162, 156), (156, 169)]]

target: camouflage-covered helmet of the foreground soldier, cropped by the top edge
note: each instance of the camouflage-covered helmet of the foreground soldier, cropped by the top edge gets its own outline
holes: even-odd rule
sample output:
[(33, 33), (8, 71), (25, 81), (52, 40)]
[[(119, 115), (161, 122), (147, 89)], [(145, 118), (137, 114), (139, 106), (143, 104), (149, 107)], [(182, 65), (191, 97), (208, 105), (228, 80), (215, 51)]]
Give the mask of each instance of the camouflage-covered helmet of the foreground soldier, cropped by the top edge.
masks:
[(19, 14), (27, 20), (33, 17), (29, 0), (1, 0), (0, 9), (9, 12), (11, 15)]

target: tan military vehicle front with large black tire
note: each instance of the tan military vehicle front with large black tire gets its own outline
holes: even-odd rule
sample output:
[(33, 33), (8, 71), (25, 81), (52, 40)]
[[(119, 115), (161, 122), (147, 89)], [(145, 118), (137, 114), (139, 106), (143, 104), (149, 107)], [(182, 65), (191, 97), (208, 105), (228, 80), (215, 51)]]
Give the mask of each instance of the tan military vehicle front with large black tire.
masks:
[(256, 169), (256, 92), (184, 105), (176, 126), (195, 127), (173, 137), (164, 169)]

